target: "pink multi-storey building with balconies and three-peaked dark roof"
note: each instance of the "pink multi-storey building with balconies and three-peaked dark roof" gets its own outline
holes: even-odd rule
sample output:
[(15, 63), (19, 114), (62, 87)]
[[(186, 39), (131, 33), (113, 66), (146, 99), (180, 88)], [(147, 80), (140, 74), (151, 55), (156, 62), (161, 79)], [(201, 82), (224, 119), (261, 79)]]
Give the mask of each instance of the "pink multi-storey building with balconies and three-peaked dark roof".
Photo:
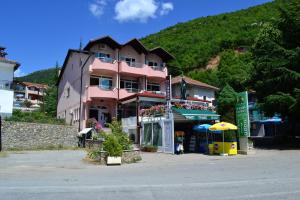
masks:
[(160, 47), (149, 50), (137, 39), (119, 44), (109, 36), (91, 40), (83, 50), (70, 49), (58, 80), (57, 117), (79, 130), (89, 118), (103, 126), (120, 119), (121, 103), (130, 96), (164, 96), (165, 63), (171, 59)]

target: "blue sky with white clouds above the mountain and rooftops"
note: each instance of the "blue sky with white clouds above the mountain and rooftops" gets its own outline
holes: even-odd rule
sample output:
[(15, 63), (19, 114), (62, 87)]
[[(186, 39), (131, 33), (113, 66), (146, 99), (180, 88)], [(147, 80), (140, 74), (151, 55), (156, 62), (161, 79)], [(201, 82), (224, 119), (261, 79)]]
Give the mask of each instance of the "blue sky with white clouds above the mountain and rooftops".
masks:
[(68, 49), (110, 35), (120, 43), (179, 22), (271, 0), (1, 0), (0, 46), (23, 76), (62, 65)]

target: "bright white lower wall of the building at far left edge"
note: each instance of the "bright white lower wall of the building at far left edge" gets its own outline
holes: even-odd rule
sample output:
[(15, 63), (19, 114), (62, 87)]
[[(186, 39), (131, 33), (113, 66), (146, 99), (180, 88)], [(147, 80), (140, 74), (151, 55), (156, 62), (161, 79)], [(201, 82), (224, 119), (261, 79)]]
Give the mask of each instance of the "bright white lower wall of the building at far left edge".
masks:
[(12, 90), (0, 90), (0, 114), (2, 117), (11, 116), (13, 100), (14, 92)]

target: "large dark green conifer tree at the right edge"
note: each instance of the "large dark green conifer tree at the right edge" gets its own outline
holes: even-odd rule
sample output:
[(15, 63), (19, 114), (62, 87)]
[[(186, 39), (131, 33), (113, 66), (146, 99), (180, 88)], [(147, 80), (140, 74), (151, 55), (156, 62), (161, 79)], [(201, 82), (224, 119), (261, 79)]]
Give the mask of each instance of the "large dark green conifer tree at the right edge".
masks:
[(300, 104), (300, 1), (280, 1), (279, 5), (278, 25), (264, 25), (253, 46), (252, 83), (267, 115), (279, 113), (296, 124)]

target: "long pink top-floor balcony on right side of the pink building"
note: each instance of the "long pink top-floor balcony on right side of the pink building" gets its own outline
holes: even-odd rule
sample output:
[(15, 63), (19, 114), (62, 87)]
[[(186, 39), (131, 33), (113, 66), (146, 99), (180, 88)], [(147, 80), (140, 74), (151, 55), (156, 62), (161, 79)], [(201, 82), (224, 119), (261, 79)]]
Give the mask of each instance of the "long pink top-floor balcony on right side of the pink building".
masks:
[(148, 76), (153, 78), (165, 79), (167, 76), (167, 69), (165, 67), (150, 67), (143, 63), (128, 63), (122, 61), (120, 64), (120, 73), (129, 74), (133, 76)]

